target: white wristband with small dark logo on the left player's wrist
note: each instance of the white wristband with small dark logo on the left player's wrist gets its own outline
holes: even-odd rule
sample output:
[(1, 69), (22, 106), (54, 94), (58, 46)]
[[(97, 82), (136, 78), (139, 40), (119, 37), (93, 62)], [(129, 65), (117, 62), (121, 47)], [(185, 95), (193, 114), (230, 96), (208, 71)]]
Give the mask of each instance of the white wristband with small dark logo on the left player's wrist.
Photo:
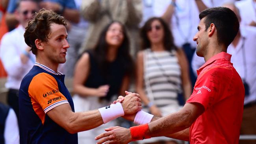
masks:
[(110, 106), (102, 107), (98, 110), (100, 111), (104, 124), (124, 115), (124, 109), (122, 108), (122, 104), (119, 102), (111, 104)]

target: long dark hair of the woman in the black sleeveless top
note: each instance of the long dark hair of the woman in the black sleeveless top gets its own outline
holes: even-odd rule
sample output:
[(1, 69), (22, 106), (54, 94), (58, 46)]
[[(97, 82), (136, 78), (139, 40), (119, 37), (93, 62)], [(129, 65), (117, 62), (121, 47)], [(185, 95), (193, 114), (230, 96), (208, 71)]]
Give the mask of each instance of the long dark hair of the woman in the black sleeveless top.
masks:
[(96, 43), (95, 48), (92, 50), (92, 53), (98, 63), (98, 66), (102, 74), (104, 74), (104, 71), (106, 70), (106, 66), (108, 66), (108, 63), (109, 63), (109, 61), (107, 60), (107, 52), (108, 52), (109, 45), (106, 41), (106, 34), (109, 27), (113, 23), (118, 23), (121, 25), (123, 35), (124, 35), (124, 40), (121, 46), (118, 48), (116, 59), (123, 64), (123, 68), (127, 72), (126, 74), (131, 75), (133, 74), (134, 63), (130, 55), (130, 42), (128, 39), (128, 35), (124, 25), (121, 22), (112, 21), (102, 30), (100, 37), (98, 39), (98, 42)]

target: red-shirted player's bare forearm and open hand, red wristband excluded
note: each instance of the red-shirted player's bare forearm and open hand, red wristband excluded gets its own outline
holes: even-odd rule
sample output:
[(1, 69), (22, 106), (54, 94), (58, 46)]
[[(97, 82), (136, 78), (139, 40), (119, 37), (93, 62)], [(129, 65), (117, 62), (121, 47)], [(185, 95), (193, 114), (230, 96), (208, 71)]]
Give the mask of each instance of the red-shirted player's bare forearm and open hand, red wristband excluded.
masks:
[[(167, 136), (182, 140), (189, 139), (188, 128), (204, 112), (204, 107), (199, 103), (186, 103), (177, 113), (169, 114), (163, 118), (152, 119), (148, 124), (148, 131), (145, 135), (151, 137)], [(139, 127), (139, 126), (138, 126)], [(98, 135), (95, 140), (102, 144), (109, 140), (116, 143), (128, 143), (132, 141), (130, 129), (123, 127), (110, 127), (105, 133)], [(125, 135), (125, 137), (123, 137)]]

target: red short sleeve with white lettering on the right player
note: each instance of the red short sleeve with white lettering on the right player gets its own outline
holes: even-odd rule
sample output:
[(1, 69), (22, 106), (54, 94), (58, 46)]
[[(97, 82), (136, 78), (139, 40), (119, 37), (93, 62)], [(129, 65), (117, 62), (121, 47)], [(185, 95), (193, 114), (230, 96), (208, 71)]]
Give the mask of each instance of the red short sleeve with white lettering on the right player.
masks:
[(225, 77), (225, 69), (212, 68), (204, 74), (199, 75), (193, 89), (193, 93), (186, 103), (200, 103), (207, 110), (224, 97), (224, 89), (228, 87), (229, 81)]

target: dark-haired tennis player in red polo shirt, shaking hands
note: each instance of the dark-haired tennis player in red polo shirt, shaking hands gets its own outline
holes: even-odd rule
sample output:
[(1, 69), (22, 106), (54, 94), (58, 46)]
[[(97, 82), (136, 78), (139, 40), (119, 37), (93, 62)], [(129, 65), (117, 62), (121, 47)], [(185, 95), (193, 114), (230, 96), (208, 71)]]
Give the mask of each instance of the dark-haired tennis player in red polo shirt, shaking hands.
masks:
[(109, 127), (95, 138), (100, 139), (97, 144), (123, 144), (158, 136), (190, 144), (238, 144), (245, 90), (226, 51), (239, 30), (239, 21), (226, 7), (206, 9), (199, 18), (193, 40), (198, 44), (197, 55), (204, 57), (206, 63), (198, 69), (193, 93), (184, 107), (163, 118), (141, 111), (126, 116), (141, 125), (130, 129)]

